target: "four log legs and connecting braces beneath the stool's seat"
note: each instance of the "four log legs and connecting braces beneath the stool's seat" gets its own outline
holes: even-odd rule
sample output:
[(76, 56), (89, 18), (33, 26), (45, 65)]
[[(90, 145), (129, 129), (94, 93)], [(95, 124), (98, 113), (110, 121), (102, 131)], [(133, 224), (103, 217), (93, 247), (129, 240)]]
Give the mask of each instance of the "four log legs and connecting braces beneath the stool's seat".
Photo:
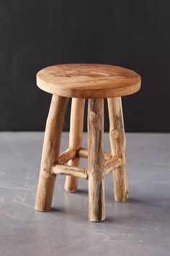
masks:
[[(115, 201), (126, 202), (125, 131), (121, 98), (108, 98), (111, 154), (104, 153), (104, 99), (89, 99), (88, 149), (81, 148), (85, 99), (72, 98), (69, 148), (59, 155), (68, 98), (53, 95), (45, 128), (40, 179), (35, 209), (48, 211), (53, 200), (56, 174), (66, 175), (65, 189), (76, 191), (78, 179), (89, 180), (89, 220), (103, 221), (104, 176), (113, 171)], [(88, 168), (79, 168), (80, 158), (88, 158)], [(68, 166), (64, 165), (68, 162)]]

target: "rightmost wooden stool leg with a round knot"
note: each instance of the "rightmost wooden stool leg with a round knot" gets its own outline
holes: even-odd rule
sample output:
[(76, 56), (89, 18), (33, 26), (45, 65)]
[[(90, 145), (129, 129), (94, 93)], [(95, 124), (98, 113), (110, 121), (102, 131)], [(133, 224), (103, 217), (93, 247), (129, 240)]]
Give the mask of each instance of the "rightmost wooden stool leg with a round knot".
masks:
[(126, 202), (128, 200), (127, 164), (125, 129), (122, 116), (121, 97), (108, 98), (109, 109), (109, 140), (112, 155), (122, 157), (122, 166), (113, 172), (115, 201)]

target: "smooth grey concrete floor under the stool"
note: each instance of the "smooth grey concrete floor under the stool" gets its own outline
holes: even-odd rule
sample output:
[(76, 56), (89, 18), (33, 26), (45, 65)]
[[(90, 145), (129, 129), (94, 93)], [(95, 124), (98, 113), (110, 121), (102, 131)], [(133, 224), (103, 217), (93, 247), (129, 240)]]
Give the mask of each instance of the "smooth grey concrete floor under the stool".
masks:
[[(102, 223), (88, 221), (86, 180), (68, 193), (58, 176), (53, 210), (34, 210), (42, 139), (40, 132), (0, 133), (1, 255), (170, 255), (169, 134), (127, 135), (130, 199), (114, 202), (107, 176)], [(109, 150), (108, 134), (104, 139)], [(62, 143), (64, 150), (68, 133)]]

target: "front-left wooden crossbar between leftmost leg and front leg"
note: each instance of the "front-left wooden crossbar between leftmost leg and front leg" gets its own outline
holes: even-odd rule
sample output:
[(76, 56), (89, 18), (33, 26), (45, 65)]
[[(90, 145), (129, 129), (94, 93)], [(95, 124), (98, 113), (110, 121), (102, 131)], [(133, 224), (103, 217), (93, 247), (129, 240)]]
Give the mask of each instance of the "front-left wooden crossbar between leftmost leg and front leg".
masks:
[(69, 175), (73, 177), (79, 177), (81, 179), (88, 179), (86, 168), (79, 168), (74, 166), (63, 166), (61, 164), (57, 164), (51, 168), (51, 172), (53, 174), (63, 174), (63, 175)]

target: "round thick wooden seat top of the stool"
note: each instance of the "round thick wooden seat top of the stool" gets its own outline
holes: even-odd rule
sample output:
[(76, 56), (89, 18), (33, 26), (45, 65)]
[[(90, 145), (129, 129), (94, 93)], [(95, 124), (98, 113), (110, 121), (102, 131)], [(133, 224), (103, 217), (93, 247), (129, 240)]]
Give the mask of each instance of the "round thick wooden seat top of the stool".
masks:
[(37, 73), (37, 86), (69, 98), (113, 98), (136, 93), (140, 75), (105, 64), (58, 64)]

